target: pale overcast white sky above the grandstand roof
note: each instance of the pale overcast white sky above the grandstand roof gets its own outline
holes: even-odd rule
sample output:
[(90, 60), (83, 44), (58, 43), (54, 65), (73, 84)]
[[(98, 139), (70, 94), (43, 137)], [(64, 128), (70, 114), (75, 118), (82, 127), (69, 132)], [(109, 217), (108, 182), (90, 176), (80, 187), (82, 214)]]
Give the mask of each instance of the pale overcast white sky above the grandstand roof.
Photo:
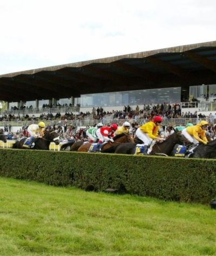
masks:
[(216, 40), (215, 0), (1, 0), (0, 75)]

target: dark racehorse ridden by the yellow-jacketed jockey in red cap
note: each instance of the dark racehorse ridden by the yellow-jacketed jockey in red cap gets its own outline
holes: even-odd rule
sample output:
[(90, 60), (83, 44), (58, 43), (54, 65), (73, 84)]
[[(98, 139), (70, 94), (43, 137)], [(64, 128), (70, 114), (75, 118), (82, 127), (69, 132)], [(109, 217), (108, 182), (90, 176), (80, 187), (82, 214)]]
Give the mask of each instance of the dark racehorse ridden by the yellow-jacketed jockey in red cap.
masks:
[[(191, 143), (182, 135), (179, 131), (174, 131), (174, 133), (164, 140), (162, 143), (156, 143), (150, 146), (152, 149), (151, 155), (161, 155), (161, 156), (170, 156), (174, 145), (176, 144), (190, 144)], [(143, 144), (137, 143), (126, 143), (120, 144), (114, 149), (107, 149), (106, 152), (111, 153), (122, 153), (122, 154), (129, 154), (129, 155), (136, 155), (138, 153), (142, 153), (141, 148), (143, 148)]]

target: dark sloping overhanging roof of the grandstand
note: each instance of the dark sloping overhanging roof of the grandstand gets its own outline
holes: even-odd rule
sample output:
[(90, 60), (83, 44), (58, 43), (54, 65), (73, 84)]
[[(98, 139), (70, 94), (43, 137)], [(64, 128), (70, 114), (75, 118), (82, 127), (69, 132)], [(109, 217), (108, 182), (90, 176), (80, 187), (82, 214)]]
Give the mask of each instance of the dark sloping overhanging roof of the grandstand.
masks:
[(0, 98), (62, 99), (202, 84), (216, 84), (216, 41), (0, 75)]

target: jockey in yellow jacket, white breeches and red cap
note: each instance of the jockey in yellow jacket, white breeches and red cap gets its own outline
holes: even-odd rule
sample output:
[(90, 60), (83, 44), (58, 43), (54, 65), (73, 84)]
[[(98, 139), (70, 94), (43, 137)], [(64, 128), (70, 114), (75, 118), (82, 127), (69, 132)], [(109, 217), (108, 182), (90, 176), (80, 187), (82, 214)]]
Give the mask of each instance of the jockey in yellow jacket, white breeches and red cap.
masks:
[(149, 121), (137, 129), (136, 136), (144, 143), (144, 155), (149, 155), (151, 152), (150, 150), (148, 152), (148, 146), (153, 139), (159, 139), (159, 142), (163, 141), (158, 135), (161, 121), (163, 121), (163, 118), (156, 116), (152, 121)]

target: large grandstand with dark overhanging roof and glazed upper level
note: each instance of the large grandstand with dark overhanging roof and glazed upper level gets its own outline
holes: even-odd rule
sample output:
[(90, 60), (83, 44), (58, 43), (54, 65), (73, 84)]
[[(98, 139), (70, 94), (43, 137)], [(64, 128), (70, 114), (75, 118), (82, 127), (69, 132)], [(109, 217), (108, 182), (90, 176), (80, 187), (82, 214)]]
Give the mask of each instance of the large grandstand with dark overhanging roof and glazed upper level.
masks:
[[(63, 125), (65, 113), (72, 116), (67, 123), (77, 127), (102, 120), (120, 124), (113, 111), (122, 111), (124, 105), (135, 111), (137, 106), (143, 110), (144, 104), (163, 103), (179, 104), (181, 113), (208, 116), (216, 111), (215, 81), (216, 41), (4, 74), (0, 95), (6, 109), (1, 110), (0, 126), (36, 122), (42, 113), (60, 113), (56, 119), (45, 119), (46, 124)], [(94, 119), (92, 108), (100, 106), (106, 114)], [(90, 115), (83, 116), (87, 112)], [(10, 114), (15, 118), (9, 119)], [(186, 122), (181, 119), (176, 123)], [(132, 123), (145, 120), (140, 113), (131, 118)]]

